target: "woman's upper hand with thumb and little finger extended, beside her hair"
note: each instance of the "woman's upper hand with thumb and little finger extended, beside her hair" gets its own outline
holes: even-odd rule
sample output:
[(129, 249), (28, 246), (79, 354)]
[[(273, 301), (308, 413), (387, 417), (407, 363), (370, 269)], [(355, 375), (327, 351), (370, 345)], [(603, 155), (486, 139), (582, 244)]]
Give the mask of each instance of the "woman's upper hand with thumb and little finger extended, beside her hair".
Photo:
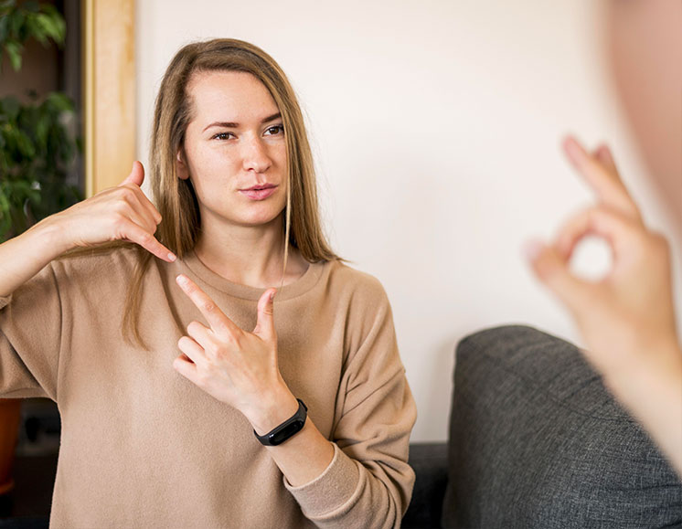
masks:
[(157, 258), (172, 262), (175, 254), (154, 236), (161, 215), (144, 196), (140, 188), (143, 181), (144, 167), (134, 162), (131, 174), (120, 185), (105, 189), (44, 222), (59, 227), (64, 250), (128, 240)]

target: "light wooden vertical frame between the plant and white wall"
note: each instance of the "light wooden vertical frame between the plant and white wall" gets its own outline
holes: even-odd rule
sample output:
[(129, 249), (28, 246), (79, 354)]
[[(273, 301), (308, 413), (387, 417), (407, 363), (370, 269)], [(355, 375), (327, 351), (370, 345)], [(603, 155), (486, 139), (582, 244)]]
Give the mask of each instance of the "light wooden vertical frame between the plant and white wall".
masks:
[(85, 196), (118, 185), (136, 159), (135, 2), (81, 0)]

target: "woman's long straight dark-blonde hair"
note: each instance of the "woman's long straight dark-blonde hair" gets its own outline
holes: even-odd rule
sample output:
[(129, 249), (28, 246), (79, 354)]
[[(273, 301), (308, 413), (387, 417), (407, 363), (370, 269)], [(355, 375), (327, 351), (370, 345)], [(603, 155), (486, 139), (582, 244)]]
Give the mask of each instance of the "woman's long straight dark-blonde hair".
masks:
[[(313, 155), (305, 132), (303, 113), (293, 88), (275, 60), (248, 42), (217, 38), (181, 48), (165, 70), (156, 97), (149, 175), (155, 205), (163, 217), (156, 238), (179, 259), (197, 244), (201, 220), (197, 196), (189, 179), (176, 174), (176, 155), (182, 150), (193, 105), (187, 86), (197, 73), (239, 71), (250, 73), (270, 91), (282, 114), (287, 153), (287, 203), (284, 209), (284, 262), (291, 244), (308, 262), (339, 259), (330, 249), (320, 222)], [(286, 243), (288, 241), (288, 244)], [(146, 348), (138, 328), (142, 282), (152, 254), (140, 249), (123, 318), (124, 336)], [(285, 265), (286, 266), (286, 265)]]

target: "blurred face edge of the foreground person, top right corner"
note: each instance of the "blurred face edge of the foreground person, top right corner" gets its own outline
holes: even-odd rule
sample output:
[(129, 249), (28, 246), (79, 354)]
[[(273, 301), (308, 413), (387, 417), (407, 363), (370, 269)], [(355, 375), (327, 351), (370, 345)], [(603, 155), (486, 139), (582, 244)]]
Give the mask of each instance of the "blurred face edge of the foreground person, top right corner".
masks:
[(682, 2), (612, 0), (613, 79), (659, 195), (682, 220)]

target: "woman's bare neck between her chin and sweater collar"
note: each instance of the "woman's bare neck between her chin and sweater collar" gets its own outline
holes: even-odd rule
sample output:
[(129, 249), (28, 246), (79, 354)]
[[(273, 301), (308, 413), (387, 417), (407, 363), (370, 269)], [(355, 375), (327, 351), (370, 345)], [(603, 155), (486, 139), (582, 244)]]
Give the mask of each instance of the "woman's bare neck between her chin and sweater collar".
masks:
[[(284, 265), (282, 217), (256, 227), (202, 223), (197, 258), (226, 280), (257, 288), (279, 287)], [(284, 284), (303, 275), (298, 253), (289, 248)]]

